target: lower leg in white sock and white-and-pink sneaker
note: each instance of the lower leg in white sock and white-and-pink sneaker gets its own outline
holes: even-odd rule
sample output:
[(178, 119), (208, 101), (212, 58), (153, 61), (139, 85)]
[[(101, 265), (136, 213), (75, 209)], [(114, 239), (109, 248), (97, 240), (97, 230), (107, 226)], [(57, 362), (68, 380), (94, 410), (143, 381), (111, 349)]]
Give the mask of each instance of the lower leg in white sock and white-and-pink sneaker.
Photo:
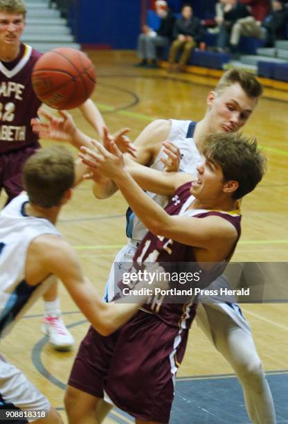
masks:
[(48, 335), (49, 342), (58, 351), (69, 351), (74, 344), (74, 338), (67, 330), (61, 317), (60, 299), (58, 297), (57, 280), (43, 295), (44, 300), (44, 324), (43, 332)]

